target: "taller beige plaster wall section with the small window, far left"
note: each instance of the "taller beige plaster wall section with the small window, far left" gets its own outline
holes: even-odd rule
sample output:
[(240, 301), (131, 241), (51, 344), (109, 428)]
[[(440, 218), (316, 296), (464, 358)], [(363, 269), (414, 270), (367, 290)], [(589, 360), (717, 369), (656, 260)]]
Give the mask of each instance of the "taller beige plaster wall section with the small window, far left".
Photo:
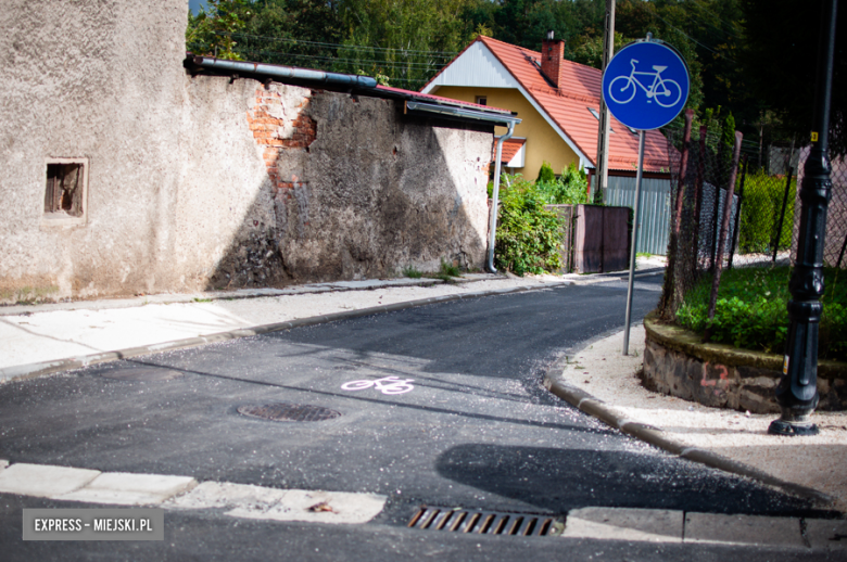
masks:
[[(5, 0), (0, 299), (173, 285), (185, 0)], [(45, 223), (46, 158), (88, 158), (86, 223)]]

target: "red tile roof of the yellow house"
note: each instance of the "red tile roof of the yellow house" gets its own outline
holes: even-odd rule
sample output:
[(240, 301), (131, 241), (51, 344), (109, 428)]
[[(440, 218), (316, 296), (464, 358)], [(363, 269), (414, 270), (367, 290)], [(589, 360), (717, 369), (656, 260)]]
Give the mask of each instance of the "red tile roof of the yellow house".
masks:
[[(490, 37), (480, 36), (476, 40), (488, 47), (547, 116), (565, 131), (592, 165), (596, 166), (599, 124), (589, 107), (595, 111), (599, 110), (602, 73), (597, 68), (572, 61), (562, 61), (561, 88), (554, 88), (536, 64), (536, 61), (541, 61), (541, 53)], [(462, 53), (458, 56), (462, 56)], [(432, 79), (434, 80), (435, 77)], [(615, 132), (609, 135), (609, 169), (636, 169), (639, 163), (637, 135), (630, 132), (615, 117), (611, 117), (610, 125)], [(668, 156), (668, 142), (665, 136), (658, 130), (646, 131), (644, 170), (667, 171), (669, 168)]]

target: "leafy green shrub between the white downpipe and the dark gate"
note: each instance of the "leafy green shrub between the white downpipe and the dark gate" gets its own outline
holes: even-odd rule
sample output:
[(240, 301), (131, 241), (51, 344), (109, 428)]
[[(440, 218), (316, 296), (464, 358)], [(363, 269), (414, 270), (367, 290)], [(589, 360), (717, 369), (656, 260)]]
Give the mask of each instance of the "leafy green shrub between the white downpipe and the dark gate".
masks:
[(561, 223), (556, 213), (544, 208), (545, 194), (520, 175), (504, 174), (501, 184), (505, 189), (501, 192), (496, 267), (519, 276), (559, 269)]

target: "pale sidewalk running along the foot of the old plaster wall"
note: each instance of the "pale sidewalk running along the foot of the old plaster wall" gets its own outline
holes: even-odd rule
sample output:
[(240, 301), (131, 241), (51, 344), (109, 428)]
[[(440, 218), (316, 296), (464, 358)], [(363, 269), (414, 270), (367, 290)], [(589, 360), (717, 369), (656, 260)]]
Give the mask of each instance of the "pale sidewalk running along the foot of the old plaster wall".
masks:
[(341, 281), (0, 307), (0, 383), (428, 302), (602, 280), (467, 273), (451, 282)]

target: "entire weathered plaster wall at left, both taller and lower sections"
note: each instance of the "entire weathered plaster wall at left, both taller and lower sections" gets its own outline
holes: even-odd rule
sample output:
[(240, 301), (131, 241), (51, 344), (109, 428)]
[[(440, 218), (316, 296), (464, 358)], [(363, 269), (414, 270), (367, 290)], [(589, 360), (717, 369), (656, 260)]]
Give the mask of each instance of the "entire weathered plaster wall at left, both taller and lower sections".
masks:
[[(490, 130), (188, 76), (186, 14), (4, 2), (0, 303), (482, 266)], [(45, 213), (51, 158), (85, 158), (81, 219)]]

